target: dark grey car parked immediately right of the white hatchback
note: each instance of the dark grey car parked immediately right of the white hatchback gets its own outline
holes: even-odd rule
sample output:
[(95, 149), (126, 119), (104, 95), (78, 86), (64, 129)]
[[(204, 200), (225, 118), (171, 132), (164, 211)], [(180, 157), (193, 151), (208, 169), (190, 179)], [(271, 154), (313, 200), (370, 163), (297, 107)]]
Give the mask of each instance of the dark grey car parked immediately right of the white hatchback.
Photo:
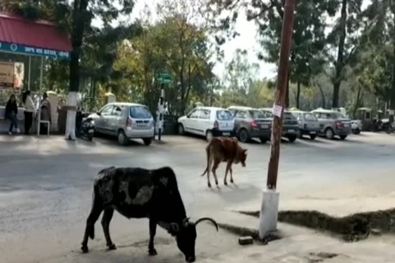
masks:
[(273, 119), (265, 112), (242, 106), (231, 106), (228, 110), (235, 118), (235, 133), (241, 142), (259, 138), (265, 143), (270, 139)]

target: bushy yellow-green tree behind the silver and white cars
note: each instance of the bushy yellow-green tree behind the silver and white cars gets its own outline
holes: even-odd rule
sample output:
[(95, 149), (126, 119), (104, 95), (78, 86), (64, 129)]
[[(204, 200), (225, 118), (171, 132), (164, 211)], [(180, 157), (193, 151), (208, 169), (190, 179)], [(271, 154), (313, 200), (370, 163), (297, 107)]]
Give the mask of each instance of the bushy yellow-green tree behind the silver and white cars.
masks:
[(173, 83), (165, 90), (169, 111), (184, 114), (191, 98), (206, 97), (214, 64), (209, 62), (206, 28), (193, 23), (192, 12), (179, 11), (187, 9), (188, 2), (167, 4), (158, 6), (161, 13), (156, 22), (145, 10), (142, 34), (119, 46), (121, 55), (114, 66), (123, 72), (122, 78), (133, 78), (133, 85), (143, 95), (141, 100), (154, 112), (160, 92), (155, 77), (157, 73), (169, 72), (173, 77)]

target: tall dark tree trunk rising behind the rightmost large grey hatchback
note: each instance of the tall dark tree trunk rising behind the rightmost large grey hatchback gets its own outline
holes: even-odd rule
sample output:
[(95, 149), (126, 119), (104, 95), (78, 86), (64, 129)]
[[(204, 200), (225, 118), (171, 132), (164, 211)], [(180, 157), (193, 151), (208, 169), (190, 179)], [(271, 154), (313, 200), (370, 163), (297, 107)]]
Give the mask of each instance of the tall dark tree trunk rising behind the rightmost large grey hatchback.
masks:
[(339, 107), (339, 90), (340, 84), (342, 84), (341, 77), (344, 68), (344, 45), (346, 42), (347, 2), (348, 0), (342, 1), (342, 15), (340, 16), (340, 30), (342, 31), (339, 37), (339, 45), (337, 50), (336, 76), (333, 83), (332, 108)]

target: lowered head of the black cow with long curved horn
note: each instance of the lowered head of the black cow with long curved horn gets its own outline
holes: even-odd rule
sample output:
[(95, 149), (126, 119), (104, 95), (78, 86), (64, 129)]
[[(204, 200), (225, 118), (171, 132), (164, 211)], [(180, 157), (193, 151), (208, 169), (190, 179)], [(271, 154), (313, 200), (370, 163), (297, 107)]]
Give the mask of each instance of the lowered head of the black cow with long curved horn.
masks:
[(196, 222), (190, 222), (189, 218), (186, 218), (184, 219), (181, 226), (174, 223), (171, 226), (171, 228), (175, 232), (177, 247), (185, 255), (185, 260), (187, 262), (194, 262), (196, 259), (195, 256), (195, 241), (197, 236), (196, 226), (202, 221), (212, 222), (218, 231), (217, 222), (208, 217), (201, 218)]

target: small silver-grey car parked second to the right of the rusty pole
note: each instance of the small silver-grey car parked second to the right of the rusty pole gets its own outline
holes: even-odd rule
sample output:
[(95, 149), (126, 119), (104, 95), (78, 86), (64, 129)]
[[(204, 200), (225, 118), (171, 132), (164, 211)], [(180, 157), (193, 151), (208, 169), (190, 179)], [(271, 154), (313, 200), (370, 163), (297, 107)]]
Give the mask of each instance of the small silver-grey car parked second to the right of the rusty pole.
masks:
[(314, 140), (319, 133), (319, 122), (314, 114), (308, 111), (292, 110), (292, 115), (297, 119), (299, 124), (299, 138), (308, 135)]

